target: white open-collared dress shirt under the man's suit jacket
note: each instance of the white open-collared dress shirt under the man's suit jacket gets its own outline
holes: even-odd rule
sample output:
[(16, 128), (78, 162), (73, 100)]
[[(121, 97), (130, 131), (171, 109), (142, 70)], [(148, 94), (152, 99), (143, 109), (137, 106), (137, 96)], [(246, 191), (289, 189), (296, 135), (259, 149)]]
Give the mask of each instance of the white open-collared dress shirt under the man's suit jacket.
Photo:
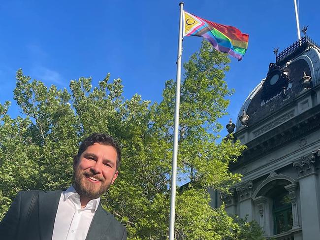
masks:
[(81, 208), (80, 196), (73, 186), (61, 193), (52, 240), (85, 240), (100, 198)]

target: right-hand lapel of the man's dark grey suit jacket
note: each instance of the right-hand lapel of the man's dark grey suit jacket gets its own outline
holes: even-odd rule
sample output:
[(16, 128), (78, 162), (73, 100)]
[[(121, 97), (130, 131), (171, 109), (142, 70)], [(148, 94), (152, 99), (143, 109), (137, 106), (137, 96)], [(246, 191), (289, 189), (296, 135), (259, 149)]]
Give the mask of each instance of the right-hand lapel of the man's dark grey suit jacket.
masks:
[(92, 219), (90, 224), (86, 240), (100, 240), (107, 231), (109, 224), (110, 216), (99, 204), (98, 208), (96, 209), (94, 219)]

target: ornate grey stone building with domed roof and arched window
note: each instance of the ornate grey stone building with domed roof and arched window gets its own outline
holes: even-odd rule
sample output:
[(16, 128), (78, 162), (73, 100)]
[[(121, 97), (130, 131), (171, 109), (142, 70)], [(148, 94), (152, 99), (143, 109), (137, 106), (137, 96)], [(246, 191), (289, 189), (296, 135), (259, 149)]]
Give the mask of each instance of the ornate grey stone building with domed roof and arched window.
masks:
[(230, 170), (243, 178), (223, 200), (267, 238), (319, 240), (320, 47), (305, 35), (275, 54), (240, 109), (234, 136), (247, 150)]

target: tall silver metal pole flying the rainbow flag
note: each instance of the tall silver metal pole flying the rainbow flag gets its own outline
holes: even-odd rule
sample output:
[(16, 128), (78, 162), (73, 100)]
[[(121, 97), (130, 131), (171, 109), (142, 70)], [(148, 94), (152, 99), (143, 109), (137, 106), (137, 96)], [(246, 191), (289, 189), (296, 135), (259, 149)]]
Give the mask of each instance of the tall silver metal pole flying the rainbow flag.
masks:
[(177, 59), (177, 86), (176, 106), (174, 110), (174, 134), (172, 154), (172, 175), (171, 175), (171, 198), (170, 198), (170, 225), (169, 240), (174, 240), (174, 220), (176, 204), (177, 185), (177, 157), (178, 157), (178, 131), (179, 131), (179, 108), (180, 108), (180, 83), (181, 83), (181, 55), (182, 55), (182, 30), (183, 30), (183, 2), (180, 2), (179, 38), (178, 38), (178, 59)]

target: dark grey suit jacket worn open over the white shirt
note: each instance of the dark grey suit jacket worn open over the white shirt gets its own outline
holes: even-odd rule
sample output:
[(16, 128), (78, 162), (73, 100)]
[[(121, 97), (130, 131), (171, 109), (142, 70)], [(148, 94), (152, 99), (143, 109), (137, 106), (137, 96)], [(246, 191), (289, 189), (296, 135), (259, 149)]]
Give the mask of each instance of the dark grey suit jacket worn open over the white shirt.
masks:
[[(62, 191), (38, 191), (38, 199), (27, 220), (34, 191), (17, 194), (0, 222), (2, 240), (51, 240)], [(126, 228), (112, 214), (98, 206), (86, 240), (126, 240)]]

